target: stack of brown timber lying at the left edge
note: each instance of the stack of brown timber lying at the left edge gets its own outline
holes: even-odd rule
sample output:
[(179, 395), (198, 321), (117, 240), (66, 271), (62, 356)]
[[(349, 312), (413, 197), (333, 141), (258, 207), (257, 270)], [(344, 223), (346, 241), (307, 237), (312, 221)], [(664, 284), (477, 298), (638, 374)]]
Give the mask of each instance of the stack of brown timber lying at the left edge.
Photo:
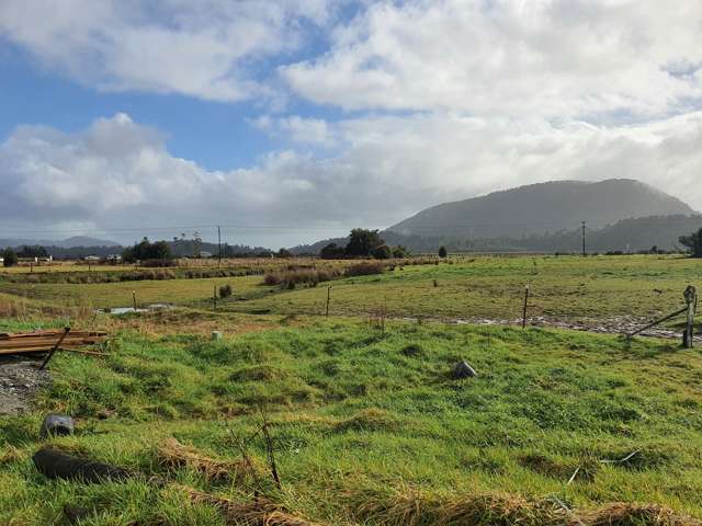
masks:
[[(69, 331), (64, 335), (64, 329), (52, 329), (35, 332), (0, 333), (1, 354), (47, 353), (57, 343), (58, 348), (76, 351), (87, 345), (94, 345), (107, 339), (106, 332)], [(61, 340), (63, 336), (63, 340)]]

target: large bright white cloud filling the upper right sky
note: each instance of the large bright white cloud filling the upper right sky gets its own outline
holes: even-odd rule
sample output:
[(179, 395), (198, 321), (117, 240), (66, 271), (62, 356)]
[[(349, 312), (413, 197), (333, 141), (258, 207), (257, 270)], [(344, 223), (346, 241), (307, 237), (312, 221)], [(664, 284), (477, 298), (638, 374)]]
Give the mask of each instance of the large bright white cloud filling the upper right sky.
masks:
[(699, 0), (383, 1), (281, 73), (348, 110), (660, 117), (702, 100), (701, 28)]

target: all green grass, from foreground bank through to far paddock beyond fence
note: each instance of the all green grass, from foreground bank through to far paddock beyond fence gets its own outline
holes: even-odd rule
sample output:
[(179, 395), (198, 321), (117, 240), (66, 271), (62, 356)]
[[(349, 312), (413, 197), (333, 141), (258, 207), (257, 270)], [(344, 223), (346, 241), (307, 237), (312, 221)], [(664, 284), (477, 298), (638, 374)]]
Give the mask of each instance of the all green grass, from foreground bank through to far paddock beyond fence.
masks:
[[(0, 332), (63, 325), (49, 308), (128, 306), (134, 289), (145, 304), (181, 306), (91, 315), (114, 334), (109, 357), (60, 353), (35, 409), (0, 416), (0, 524), (69, 524), (66, 506), (82, 511), (81, 525), (263, 524), (227, 521), (193, 502), (195, 490), (239, 503), (264, 494), (324, 525), (697, 524), (686, 517), (702, 518), (698, 350), (434, 319), (517, 318), (525, 283), (534, 313), (645, 318), (678, 307), (700, 271), (656, 256), (456, 259), (331, 282), (328, 320), (327, 284), (282, 290), (261, 276), (0, 283), (0, 301), (26, 304), (0, 310)], [(235, 299), (212, 312), (222, 284)], [(419, 320), (381, 330), (367, 316), (384, 304)], [(210, 341), (214, 329), (225, 339)], [(452, 379), (460, 359), (478, 376)], [(78, 432), (53, 445), (143, 477), (46, 480), (31, 456), (54, 411), (73, 415)], [(262, 414), (282, 489), (257, 434)], [(169, 438), (228, 465), (249, 458), (254, 474), (215, 480), (201, 465), (168, 465), (159, 447)]]

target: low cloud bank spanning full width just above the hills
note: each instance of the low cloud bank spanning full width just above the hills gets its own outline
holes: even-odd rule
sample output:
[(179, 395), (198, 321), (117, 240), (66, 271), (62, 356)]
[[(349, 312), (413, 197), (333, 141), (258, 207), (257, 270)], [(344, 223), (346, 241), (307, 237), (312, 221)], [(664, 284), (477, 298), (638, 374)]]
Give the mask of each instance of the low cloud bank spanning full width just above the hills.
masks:
[(390, 225), (442, 201), (518, 184), (608, 178), (636, 178), (702, 208), (702, 112), (616, 128), (449, 114), (333, 128), (336, 157), (279, 151), (249, 169), (207, 171), (170, 155), (158, 133), (123, 114), (79, 134), (20, 127), (0, 146), (0, 222), (18, 231), (81, 224), (145, 233), (286, 227), (236, 233), (276, 247), (338, 235), (338, 226)]

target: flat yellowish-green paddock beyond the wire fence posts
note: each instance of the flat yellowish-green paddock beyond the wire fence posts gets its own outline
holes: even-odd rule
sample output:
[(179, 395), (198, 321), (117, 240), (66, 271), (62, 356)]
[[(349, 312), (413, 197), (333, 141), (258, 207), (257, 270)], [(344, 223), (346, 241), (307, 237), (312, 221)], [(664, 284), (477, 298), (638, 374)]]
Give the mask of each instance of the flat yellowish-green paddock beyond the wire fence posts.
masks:
[(0, 282), (0, 293), (59, 305), (128, 307), (171, 302), (207, 308), (213, 287), (230, 284), (231, 312), (319, 315), (327, 285), (331, 312), (367, 316), (382, 306), (393, 317), (521, 317), (524, 287), (531, 287), (530, 316), (556, 320), (655, 318), (683, 305), (682, 291), (702, 278), (702, 261), (679, 256), (539, 256), (455, 259), (439, 265), (405, 266), (380, 276), (344, 278), (313, 288), (281, 290), (261, 276), (171, 279), (104, 284), (15, 284)]

